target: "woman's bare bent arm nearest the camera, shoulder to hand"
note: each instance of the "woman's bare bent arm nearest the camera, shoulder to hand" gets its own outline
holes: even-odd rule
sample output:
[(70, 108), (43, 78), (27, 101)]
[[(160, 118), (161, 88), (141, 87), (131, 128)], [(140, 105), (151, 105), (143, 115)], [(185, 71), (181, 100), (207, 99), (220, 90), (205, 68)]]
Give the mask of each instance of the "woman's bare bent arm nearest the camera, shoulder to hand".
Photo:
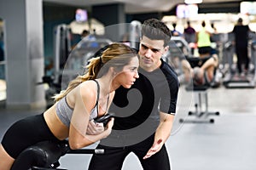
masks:
[(79, 149), (106, 138), (112, 130), (113, 120), (108, 122), (105, 130), (96, 135), (86, 133), (90, 120), (90, 111), (96, 105), (96, 87), (94, 83), (83, 82), (75, 94), (75, 105), (69, 128), (69, 144), (71, 149)]

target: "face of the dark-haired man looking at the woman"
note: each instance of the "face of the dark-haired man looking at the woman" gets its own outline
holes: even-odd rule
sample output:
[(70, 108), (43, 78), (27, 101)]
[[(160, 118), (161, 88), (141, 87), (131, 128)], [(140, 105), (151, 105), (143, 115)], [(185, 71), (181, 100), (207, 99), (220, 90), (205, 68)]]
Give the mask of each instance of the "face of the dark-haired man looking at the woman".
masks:
[(164, 40), (151, 40), (143, 36), (138, 53), (140, 55), (140, 66), (145, 71), (154, 71), (160, 67), (160, 58), (167, 50), (168, 47), (164, 47)]

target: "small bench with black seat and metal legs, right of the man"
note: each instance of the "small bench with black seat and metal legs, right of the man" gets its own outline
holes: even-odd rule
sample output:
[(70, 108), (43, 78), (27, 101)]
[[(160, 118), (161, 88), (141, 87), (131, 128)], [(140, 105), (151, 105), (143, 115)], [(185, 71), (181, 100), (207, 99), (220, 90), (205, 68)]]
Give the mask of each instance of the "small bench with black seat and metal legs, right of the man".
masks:
[[(207, 89), (211, 88), (206, 85), (188, 85), (185, 89), (190, 92), (194, 92), (197, 95), (198, 101), (195, 101), (195, 111), (189, 111), (189, 116), (186, 120), (180, 119), (179, 122), (192, 122), (192, 123), (213, 123), (213, 118), (208, 118), (208, 116), (218, 116), (218, 111), (208, 111), (208, 95)], [(204, 111), (203, 111), (203, 99)], [(191, 116), (195, 116), (194, 118)], [(191, 119), (190, 119), (191, 118)]]

